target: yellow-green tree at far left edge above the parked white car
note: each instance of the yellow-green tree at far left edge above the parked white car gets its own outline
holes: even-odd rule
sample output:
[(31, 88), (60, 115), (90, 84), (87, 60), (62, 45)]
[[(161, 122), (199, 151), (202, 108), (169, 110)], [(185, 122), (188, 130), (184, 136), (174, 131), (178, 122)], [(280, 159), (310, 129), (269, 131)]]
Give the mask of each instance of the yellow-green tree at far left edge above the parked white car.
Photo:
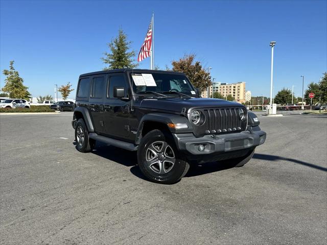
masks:
[(24, 80), (19, 77), (18, 71), (14, 68), (13, 60), (10, 61), (9, 70), (5, 69), (3, 74), (6, 76), (6, 84), (1, 90), (9, 93), (9, 97), (26, 100), (31, 97), (28, 87), (24, 86)]

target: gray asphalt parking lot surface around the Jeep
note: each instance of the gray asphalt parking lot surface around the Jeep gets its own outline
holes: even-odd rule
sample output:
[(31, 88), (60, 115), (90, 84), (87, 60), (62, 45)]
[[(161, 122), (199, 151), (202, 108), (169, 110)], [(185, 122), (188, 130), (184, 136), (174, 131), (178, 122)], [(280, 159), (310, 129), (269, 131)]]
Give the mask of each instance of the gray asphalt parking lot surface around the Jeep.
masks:
[(241, 168), (143, 179), (136, 155), (75, 149), (72, 113), (0, 116), (1, 244), (326, 244), (327, 117), (260, 116)]

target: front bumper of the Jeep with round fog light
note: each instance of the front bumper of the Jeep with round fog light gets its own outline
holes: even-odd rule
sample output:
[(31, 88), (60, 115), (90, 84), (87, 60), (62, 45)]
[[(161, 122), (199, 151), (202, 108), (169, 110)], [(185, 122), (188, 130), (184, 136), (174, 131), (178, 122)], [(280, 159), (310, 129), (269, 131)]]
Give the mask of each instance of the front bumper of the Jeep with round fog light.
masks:
[(264, 131), (244, 131), (224, 135), (206, 135), (196, 138), (193, 134), (173, 134), (180, 151), (192, 155), (207, 155), (230, 153), (253, 149), (266, 140)]

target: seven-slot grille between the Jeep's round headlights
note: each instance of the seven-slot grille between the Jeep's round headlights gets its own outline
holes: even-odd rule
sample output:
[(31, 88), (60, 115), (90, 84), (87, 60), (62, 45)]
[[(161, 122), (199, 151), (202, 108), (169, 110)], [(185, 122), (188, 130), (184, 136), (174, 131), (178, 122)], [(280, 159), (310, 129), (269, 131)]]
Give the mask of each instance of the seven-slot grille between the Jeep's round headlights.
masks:
[(205, 116), (205, 134), (241, 131), (242, 123), (239, 116), (240, 108), (202, 109)]

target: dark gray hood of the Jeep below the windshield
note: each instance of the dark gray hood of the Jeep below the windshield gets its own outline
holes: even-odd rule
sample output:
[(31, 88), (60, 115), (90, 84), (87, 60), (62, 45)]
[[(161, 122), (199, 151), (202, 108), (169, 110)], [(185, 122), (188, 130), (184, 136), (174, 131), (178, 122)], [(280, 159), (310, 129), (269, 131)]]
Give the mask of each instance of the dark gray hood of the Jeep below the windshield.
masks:
[[(138, 105), (137, 105), (138, 104)], [(190, 108), (198, 107), (225, 107), (225, 106), (243, 106), (237, 102), (230, 102), (221, 99), (209, 98), (158, 98), (158, 99), (143, 99), (135, 103), (135, 106), (149, 109), (169, 110), (181, 112), (182, 108), (188, 111)]]

